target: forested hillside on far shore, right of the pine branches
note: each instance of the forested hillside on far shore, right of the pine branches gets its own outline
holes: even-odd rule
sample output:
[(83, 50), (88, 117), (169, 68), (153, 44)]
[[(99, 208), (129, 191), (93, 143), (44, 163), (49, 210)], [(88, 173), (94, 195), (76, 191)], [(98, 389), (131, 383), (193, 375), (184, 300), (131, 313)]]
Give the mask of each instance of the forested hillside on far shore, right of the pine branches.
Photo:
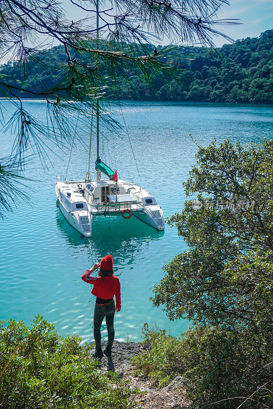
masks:
[[(168, 62), (181, 67), (178, 81), (159, 83), (153, 93), (137, 77), (132, 82), (141, 100), (273, 102), (273, 30), (259, 38), (245, 38), (217, 50), (179, 47)], [(185, 59), (185, 57), (187, 57)], [(183, 78), (188, 86), (180, 83)], [(136, 99), (124, 84), (122, 99)]]

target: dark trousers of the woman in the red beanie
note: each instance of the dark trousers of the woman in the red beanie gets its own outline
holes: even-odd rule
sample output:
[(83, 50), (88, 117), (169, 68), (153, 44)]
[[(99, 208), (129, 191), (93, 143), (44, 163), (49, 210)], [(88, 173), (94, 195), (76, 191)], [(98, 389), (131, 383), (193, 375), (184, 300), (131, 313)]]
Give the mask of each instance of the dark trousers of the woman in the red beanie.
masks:
[(115, 337), (115, 330), (114, 330), (115, 310), (116, 308), (115, 308), (114, 301), (112, 301), (110, 304), (107, 304), (107, 305), (95, 304), (93, 327), (94, 327), (95, 345), (96, 345), (96, 349), (98, 350), (101, 349), (100, 328), (101, 328), (101, 324), (102, 324), (104, 317), (105, 317), (106, 328), (108, 332), (107, 348), (108, 349), (112, 348), (114, 337)]

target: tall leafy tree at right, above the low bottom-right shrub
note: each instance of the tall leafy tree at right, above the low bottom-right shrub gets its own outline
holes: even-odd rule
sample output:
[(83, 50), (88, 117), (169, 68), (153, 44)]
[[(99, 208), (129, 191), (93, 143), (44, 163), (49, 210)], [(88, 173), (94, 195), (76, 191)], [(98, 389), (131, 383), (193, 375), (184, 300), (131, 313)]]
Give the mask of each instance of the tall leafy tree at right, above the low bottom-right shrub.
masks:
[(198, 323), (233, 328), (260, 322), (261, 312), (270, 316), (272, 148), (271, 140), (199, 148), (184, 184), (197, 205), (188, 200), (169, 219), (190, 250), (164, 267), (167, 274), (155, 287), (154, 303), (166, 304), (170, 319), (186, 313)]

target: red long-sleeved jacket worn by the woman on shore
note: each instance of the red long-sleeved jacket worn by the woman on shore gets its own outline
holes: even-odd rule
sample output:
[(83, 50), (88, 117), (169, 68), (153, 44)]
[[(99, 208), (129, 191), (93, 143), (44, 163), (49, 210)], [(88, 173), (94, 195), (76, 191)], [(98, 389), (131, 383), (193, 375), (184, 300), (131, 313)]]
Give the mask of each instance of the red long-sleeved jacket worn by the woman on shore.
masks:
[(120, 282), (116, 276), (112, 277), (90, 277), (90, 270), (86, 270), (81, 279), (86, 283), (93, 284), (91, 291), (93, 296), (99, 297), (102, 300), (110, 300), (116, 297), (116, 307), (121, 308), (120, 300)]

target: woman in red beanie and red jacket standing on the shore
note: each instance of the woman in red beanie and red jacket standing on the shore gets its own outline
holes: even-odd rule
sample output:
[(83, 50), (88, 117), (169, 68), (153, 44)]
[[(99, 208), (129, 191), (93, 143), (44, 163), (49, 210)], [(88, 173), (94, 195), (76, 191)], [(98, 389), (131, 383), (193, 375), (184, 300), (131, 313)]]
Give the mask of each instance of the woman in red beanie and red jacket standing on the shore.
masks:
[[(90, 277), (93, 271), (99, 268), (98, 277)], [(94, 310), (94, 339), (95, 339), (95, 358), (101, 358), (103, 353), (111, 357), (112, 345), (115, 337), (114, 330), (114, 315), (115, 311), (119, 312), (121, 309), (120, 301), (120, 282), (114, 276), (113, 271), (113, 257), (109, 254), (101, 259), (100, 263), (95, 263), (90, 270), (87, 270), (81, 277), (83, 281), (93, 284), (91, 293), (96, 296), (95, 310)], [(113, 297), (116, 298), (116, 306)], [(106, 327), (108, 332), (107, 347), (102, 352), (101, 349), (101, 333), (100, 328), (103, 319), (106, 319)]]

